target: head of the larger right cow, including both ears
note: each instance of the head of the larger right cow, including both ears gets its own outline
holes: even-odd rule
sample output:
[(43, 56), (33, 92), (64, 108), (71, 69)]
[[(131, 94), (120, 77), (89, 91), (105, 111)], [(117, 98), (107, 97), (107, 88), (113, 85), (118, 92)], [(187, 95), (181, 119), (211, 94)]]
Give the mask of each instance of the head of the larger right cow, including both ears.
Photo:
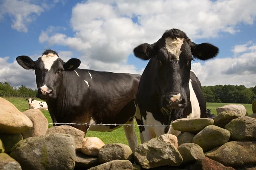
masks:
[(154, 83), (154, 88), (160, 94), (162, 109), (186, 107), (193, 57), (207, 60), (217, 54), (218, 48), (214, 45), (196, 44), (179, 29), (166, 31), (154, 44), (144, 43), (134, 48), (136, 57), (151, 59), (151, 81), (154, 82), (148, 83)]

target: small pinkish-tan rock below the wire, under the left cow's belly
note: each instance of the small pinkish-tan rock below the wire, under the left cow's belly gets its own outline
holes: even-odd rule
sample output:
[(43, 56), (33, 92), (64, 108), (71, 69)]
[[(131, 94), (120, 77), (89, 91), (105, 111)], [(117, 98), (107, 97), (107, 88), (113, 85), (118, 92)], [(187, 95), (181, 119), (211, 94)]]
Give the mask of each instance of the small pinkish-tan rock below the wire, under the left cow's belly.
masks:
[(86, 137), (83, 139), (81, 152), (86, 155), (98, 156), (99, 149), (104, 145), (105, 143), (97, 137)]

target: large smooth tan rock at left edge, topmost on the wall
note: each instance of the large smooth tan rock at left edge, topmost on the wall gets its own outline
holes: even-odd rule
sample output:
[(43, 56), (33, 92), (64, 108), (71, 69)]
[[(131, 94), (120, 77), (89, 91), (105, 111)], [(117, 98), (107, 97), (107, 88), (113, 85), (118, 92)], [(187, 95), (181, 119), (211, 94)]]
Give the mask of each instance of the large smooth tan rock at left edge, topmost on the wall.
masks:
[(0, 97), (0, 133), (18, 134), (33, 127), (32, 121), (15, 106)]

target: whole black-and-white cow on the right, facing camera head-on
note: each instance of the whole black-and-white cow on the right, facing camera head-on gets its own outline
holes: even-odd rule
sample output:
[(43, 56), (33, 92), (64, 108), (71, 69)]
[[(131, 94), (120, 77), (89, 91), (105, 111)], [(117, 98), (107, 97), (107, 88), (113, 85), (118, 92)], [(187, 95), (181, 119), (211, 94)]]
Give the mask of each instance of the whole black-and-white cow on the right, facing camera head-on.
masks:
[[(195, 44), (183, 31), (166, 31), (154, 44), (141, 44), (134, 55), (149, 60), (137, 92), (136, 119), (141, 125), (171, 125), (180, 118), (200, 118), (206, 114), (201, 83), (191, 71), (192, 56), (207, 60), (218, 54), (209, 43)], [(156, 136), (180, 132), (169, 127), (140, 127), (142, 143)]]

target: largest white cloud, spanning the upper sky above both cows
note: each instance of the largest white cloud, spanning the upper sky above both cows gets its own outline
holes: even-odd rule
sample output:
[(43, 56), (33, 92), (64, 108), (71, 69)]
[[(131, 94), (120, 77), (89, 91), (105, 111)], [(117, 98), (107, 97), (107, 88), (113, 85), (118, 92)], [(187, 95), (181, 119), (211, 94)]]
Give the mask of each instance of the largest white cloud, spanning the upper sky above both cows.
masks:
[(79, 51), (87, 65), (100, 70), (98, 63), (124, 66), (134, 47), (156, 42), (171, 28), (191, 39), (236, 34), (239, 24), (253, 24), (255, 8), (253, 0), (89, 0), (73, 7), (73, 36), (43, 31), (40, 42)]

